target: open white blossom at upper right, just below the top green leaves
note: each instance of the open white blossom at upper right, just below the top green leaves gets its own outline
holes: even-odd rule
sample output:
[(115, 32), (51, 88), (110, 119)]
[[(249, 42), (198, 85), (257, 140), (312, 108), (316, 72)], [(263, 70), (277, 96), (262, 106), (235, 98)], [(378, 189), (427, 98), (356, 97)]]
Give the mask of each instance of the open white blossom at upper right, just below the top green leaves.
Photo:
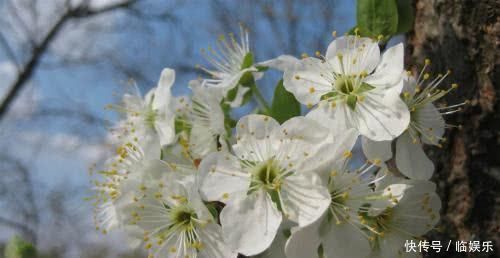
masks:
[(392, 140), (410, 119), (399, 98), (402, 72), (402, 44), (380, 57), (377, 42), (345, 36), (330, 44), (325, 57), (304, 58), (286, 70), (284, 86), (301, 103), (318, 104), (309, 117), (332, 130), (355, 128), (372, 140)]

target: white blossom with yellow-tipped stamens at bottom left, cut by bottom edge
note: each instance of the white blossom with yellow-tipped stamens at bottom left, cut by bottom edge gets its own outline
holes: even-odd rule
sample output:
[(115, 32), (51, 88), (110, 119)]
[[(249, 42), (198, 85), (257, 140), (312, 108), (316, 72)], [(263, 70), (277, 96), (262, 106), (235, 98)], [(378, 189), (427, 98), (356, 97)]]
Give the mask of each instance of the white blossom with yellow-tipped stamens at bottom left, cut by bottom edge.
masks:
[(131, 210), (132, 223), (144, 230), (149, 257), (237, 257), (192, 183), (169, 176), (155, 183)]

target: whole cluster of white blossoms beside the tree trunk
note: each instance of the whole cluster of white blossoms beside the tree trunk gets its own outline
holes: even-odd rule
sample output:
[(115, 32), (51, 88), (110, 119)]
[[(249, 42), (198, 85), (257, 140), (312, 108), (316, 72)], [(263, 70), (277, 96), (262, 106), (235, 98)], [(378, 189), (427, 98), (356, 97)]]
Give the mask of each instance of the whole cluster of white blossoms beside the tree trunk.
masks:
[[(405, 241), (435, 227), (441, 202), (422, 144), (440, 146), (443, 115), (465, 104), (434, 106), (456, 88), (440, 88), (448, 73), (432, 79), (426, 60), (413, 76), (402, 44), (381, 53), (357, 35), (324, 55), (256, 63), (242, 29), (203, 53), (211, 78), (191, 81), (191, 96), (172, 96), (167, 68), (145, 97), (110, 105), (122, 119), (93, 182), (98, 230), (122, 228), (154, 258), (368, 258), (409, 255)], [(259, 92), (269, 68), (283, 71), (275, 98), (289, 103)], [(252, 97), (261, 107), (234, 119)], [(276, 115), (292, 102), (308, 112)], [(358, 139), (363, 164), (352, 159)]]

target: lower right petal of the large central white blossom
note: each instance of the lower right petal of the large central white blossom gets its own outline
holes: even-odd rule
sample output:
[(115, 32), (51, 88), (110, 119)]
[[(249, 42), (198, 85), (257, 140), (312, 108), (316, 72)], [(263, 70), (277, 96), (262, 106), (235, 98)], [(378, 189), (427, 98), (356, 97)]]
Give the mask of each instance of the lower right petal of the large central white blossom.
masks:
[(281, 189), (283, 213), (300, 227), (319, 219), (329, 207), (330, 192), (316, 174), (294, 174), (286, 178)]

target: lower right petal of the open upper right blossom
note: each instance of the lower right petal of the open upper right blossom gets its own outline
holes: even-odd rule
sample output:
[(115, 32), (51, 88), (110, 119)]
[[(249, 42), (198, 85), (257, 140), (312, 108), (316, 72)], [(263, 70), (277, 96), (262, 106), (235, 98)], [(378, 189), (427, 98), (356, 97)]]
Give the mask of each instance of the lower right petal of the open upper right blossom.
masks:
[(370, 91), (356, 104), (354, 126), (374, 141), (388, 141), (403, 133), (410, 122), (408, 107), (394, 90)]

